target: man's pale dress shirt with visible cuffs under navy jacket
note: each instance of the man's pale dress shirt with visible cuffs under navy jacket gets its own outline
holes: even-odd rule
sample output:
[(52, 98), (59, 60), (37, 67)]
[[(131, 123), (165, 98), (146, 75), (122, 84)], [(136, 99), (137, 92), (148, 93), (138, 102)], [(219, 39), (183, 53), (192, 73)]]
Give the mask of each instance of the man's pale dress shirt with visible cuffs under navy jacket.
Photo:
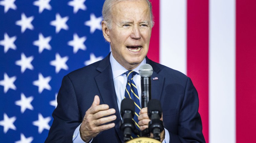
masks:
[[(124, 93), (125, 93), (125, 87), (127, 83), (127, 76), (125, 72), (127, 72), (127, 69), (125, 69), (123, 66), (120, 65), (120, 63), (117, 62), (117, 60), (114, 59), (112, 53), (110, 54), (110, 63), (111, 63), (111, 69), (113, 74), (113, 80), (114, 80), (114, 86), (115, 91), (117, 95), (117, 105), (120, 112), (121, 107), (121, 101), (124, 99)], [(133, 81), (137, 86), (138, 94), (139, 94), (139, 101), (141, 103), (141, 86), (140, 86), (140, 75), (139, 75), (139, 67), (146, 63), (146, 59), (144, 59), (139, 66), (137, 66), (133, 71), (137, 72), (137, 74), (133, 77)], [(120, 115), (121, 116), (121, 115)], [(122, 119), (122, 117), (121, 117)], [(80, 136), (80, 129), (81, 124), (76, 128), (74, 134), (73, 134), (73, 143), (85, 143), (81, 139)], [(169, 132), (168, 130), (165, 130), (165, 139), (163, 143), (169, 142)], [(90, 140), (92, 142), (92, 139)], [(90, 143), (89, 142), (89, 143)]]

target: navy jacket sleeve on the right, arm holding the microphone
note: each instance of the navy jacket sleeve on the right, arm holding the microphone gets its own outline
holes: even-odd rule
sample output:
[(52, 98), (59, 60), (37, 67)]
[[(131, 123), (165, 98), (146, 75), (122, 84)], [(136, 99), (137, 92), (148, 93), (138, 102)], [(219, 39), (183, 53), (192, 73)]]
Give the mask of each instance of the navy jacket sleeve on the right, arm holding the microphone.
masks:
[(205, 143), (198, 107), (198, 93), (188, 77), (180, 108), (178, 131), (177, 134), (169, 132), (170, 143)]

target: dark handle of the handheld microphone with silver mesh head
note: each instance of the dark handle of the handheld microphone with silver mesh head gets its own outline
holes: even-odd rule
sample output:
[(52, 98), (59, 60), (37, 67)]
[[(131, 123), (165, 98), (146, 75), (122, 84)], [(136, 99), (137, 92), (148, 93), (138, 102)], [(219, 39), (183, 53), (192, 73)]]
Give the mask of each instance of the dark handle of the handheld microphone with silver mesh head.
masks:
[(151, 99), (151, 77), (141, 77), (141, 107), (148, 107)]

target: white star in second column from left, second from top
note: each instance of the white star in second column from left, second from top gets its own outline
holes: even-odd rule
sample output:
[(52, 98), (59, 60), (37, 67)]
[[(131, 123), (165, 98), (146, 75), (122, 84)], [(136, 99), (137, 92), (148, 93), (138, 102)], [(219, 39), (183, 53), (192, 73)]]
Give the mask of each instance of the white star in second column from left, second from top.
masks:
[(26, 69), (31, 69), (31, 70), (34, 69), (33, 65), (31, 64), (33, 59), (34, 59), (33, 56), (26, 57), (24, 53), (21, 53), (21, 59), (17, 60), (15, 64), (18, 66), (21, 66), (21, 69), (20, 69), (21, 73), (24, 73)]

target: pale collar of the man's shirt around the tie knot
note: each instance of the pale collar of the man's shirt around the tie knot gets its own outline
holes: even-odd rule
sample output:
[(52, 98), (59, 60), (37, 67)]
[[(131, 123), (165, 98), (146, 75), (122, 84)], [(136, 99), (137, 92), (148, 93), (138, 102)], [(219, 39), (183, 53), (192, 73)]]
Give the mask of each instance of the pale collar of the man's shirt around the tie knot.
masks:
[[(120, 63), (118, 63), (117, 60), (113, 57), (112, 52), (110, 54), (109, 60), (110, 60), (114, 79), (116, 77), (124, 74), (127, 71), (127, 69), (125, 69), (122, 65), (120, 65)], [(137, 66), (135, 69), (133, 69), (133, 71), (135, 71), (135, 72), (137, 72), (137, 74), (139, 74), (139, 67), (145, 63), (146, 63), (146, 59), (144, 58), (144, 60), (142, 60), (142, 62), (139, 64), (139, 66)]]

